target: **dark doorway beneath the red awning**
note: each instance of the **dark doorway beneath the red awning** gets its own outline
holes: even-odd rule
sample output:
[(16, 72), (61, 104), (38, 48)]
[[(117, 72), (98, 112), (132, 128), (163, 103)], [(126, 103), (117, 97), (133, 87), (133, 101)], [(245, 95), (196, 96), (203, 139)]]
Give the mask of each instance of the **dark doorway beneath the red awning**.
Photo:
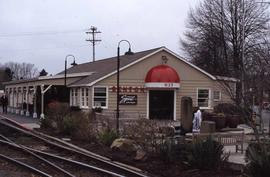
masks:
[(174, 119), (174, 90), (149, 90), (149, 118)]

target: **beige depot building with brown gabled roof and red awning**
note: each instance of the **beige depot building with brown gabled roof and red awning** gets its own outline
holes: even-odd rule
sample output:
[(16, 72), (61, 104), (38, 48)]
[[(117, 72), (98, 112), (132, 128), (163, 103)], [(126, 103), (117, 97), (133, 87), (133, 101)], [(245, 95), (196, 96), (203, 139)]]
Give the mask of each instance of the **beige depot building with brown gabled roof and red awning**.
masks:
[[(54, 76), (5, 83), (8, 111), (44, 117), (52, 100), (83, 111), (102, 108), (114, 115), (117, 105), (117, 57), (74, 65)], [(120, 56), (120, 118), (180, 120), (189, 98), (212, 110), (232, 102), (237, 80), (213, 76), (165, 47)], [(230, 88), (228, 88), (230, 87)], [(45, 116), (46, 117), (46, 116)]]

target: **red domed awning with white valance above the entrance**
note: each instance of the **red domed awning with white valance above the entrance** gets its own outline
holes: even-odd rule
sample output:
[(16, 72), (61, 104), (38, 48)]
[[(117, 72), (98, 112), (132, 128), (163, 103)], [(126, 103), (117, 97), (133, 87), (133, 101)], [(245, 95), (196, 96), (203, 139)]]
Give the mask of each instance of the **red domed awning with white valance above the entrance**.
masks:
[(179, 88), (180, 77), (175, 69), (162, 64), (150, 69), (145, 77), (146, 88)]

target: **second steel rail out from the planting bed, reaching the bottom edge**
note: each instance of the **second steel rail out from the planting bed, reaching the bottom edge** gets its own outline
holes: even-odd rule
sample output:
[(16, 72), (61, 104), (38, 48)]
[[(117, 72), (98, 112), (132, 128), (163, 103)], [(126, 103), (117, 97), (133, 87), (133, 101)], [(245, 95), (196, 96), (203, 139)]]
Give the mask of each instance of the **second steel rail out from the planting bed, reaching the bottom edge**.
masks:
[[(10, 141), (0, 140), (0, 143), (11, 146), (13, 148), (21, 149), (21, 147), (18, 146), (16, 143), (13, 143), (13, 142), (10, 142)], [(105, 173), (105, 174), (109, 174), (109, 175), (113, 175), (113, 176), (117, 176), (117, 177), (124, 177), (123, 175), (120, 175), (120, 174), (117, 174), (117, 173), (114, 173), (114, 172), (111, 172), (111, 171), (108, 171), (108, 170), (104, 170), (104, 169), (99, 168), (99, 167), (88, 165), (88, 164), (80, 162), (80, 161), (67, 159), (67, 158), (60, 157), (58, 155), (52, 154), (52, 153), (43, 152), (43, 151), (36, 150), (36, 149), (33, 149), (33, 148), (29, 148), (29, 147), (26, 147), (26, 146), (23, 146), (23, 147), (30, 150), (30, 151), (38, 153), (38, 154), (40, 154), (42, 156), (47, 156), (47, 157), (54, 158), (54, 159), (57, 159), (57, 160), (62, 160), (62, 161), (68, 162), (70, 164), (75, 164), (75, 165), (78, 165), (78, 166), (81, 166), (81, 167), (84, 167), (84, 168), (88, 168), (88, 169), (91, 169), (91, 170), (96, 170), (98, 172), (102, 172), (102, 173)]]

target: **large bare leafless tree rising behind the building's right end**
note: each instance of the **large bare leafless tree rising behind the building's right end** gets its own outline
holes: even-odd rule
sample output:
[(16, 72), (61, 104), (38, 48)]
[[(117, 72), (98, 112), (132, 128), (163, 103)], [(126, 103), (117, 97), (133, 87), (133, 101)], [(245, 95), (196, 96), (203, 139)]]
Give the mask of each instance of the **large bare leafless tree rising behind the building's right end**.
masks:
[[(250, 75), (258, 75), (262, 65), (269, 65), (267, 8), (255, 0), (204, 0), (189, 13), (182, 49), (211, 74), (248, 83)], [(244, 93), (239, 84), (238, 102)]]

